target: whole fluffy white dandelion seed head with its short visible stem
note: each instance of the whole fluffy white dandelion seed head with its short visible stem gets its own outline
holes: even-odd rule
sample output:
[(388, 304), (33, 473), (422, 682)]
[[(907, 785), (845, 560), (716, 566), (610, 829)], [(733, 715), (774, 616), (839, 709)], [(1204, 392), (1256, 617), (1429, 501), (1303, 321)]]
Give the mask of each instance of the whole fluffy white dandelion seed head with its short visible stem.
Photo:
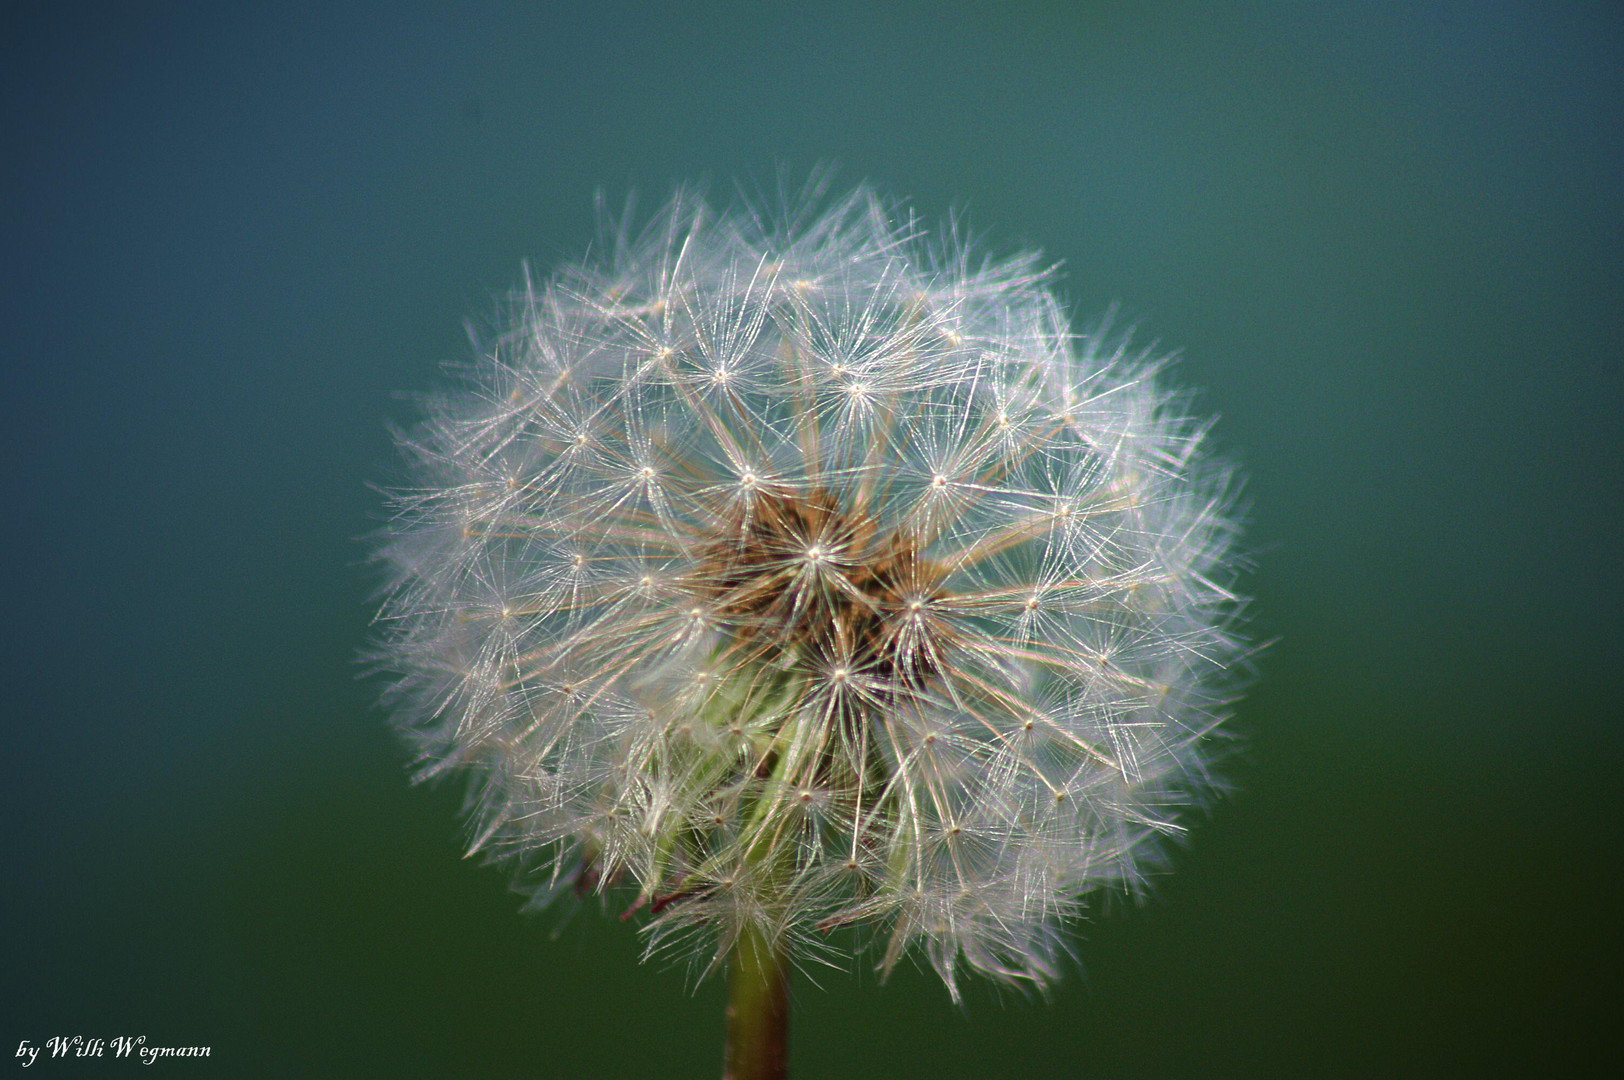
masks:
[(1242, 643), (1233, 490), (1161, 365), (859, 188), (677, 195), (525, 286), (401, 438), (377, 663), (538, 903), (731, 968), (729, 1077), (857, 927), (1044, 986), (1140, 888)]

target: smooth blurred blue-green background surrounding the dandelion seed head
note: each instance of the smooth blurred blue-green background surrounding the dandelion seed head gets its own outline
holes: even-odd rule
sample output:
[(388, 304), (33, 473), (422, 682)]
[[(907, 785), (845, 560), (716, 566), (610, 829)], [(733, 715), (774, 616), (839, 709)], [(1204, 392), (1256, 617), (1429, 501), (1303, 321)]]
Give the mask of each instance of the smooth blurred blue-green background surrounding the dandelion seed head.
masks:
[(719, 1072), (719, 984), (518, 914), (408, 784), (369, 482), (596, 188), (836, 162), (1184, 357), (1276, 643), (1234, 797), (1052, 1000), (802, 979), (797, 1075), (1618, 1064), (1618, 5), (13, 0), (0, 101), (6, 1056)]

